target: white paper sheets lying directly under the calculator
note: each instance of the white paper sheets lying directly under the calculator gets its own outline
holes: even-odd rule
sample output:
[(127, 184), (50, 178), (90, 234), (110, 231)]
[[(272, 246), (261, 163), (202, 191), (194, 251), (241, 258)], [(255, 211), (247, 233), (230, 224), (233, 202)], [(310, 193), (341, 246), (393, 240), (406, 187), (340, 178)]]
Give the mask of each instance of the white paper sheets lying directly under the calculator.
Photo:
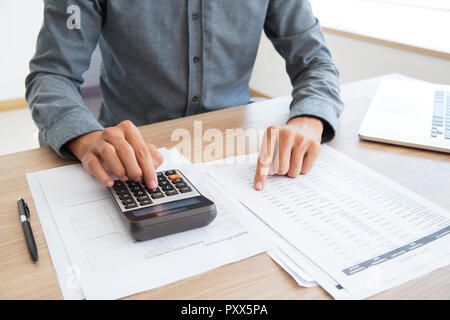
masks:
[[(170, 158), (166, 157), (165, 166), (173, 165)], [(125, 297), (250, 257), (270, 246), (257, 230), (240, 221), (239, 210), (205, 184), (200, 173), (180, 169), (215, 202), (217, 218), (204, 228), (144, 242), (130, 237), (109, 191), (81, 165), (28, 175), (65, 298)]]

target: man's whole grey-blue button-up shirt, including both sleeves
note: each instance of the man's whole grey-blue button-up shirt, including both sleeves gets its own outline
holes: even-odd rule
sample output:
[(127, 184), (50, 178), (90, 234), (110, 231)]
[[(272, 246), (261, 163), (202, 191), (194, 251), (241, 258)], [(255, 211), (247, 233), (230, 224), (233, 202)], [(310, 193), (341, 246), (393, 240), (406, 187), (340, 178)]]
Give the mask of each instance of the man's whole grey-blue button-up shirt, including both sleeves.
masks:
[[(70, 5), (80, 28), (68, 27)], [(144, 125), (247, 104), (262, 30), (286, 61), (290, 117), (320, 118), (330, 140), (343, 110), (339, 74), (307, 0), (46, 0), (26, 79), (33, 119), (71, 157), (66, 142), (125, 119)], [(98, 120), (79, 93), (97, 44)]]

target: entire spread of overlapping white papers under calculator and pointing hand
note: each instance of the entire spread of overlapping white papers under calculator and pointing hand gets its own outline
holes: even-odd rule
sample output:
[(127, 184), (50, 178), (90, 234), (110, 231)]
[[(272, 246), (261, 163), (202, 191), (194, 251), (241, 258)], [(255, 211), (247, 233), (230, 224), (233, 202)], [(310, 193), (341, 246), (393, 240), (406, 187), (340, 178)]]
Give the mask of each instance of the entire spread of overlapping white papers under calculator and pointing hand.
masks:
[(64, 298), (120, 298), (267, 251), (299, 285), (361, 299), (450, 262), (448, 211), (330, 147), (308, 175), (269, 177), (262, 192), (257, 154), (192, 165), (161, 152), (160, 170), (216, 203), (210, 226), (135, 242), (80, 165), (27, 175)]

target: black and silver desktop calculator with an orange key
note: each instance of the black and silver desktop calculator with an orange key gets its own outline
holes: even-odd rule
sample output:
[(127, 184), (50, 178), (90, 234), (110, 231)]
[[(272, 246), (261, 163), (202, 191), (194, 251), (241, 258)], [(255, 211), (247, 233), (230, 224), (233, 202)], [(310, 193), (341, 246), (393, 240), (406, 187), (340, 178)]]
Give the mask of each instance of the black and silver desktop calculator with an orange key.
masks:
[(145, 182), (115, 180), (109, 189), (131, 236), (150, 240), (206, 226), (214, 220), (214, 202), (176, 169), (157, 172), (158, 188)]

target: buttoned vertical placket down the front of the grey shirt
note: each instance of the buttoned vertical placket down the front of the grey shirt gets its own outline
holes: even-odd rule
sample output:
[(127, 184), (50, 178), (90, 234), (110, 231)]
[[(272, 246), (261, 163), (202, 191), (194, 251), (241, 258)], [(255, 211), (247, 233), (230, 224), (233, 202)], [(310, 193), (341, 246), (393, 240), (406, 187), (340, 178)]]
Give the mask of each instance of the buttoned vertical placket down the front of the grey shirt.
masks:
[(189, 77), (186, 115), (198, 113), (202, 96), (202, 0), (188, 1)]

